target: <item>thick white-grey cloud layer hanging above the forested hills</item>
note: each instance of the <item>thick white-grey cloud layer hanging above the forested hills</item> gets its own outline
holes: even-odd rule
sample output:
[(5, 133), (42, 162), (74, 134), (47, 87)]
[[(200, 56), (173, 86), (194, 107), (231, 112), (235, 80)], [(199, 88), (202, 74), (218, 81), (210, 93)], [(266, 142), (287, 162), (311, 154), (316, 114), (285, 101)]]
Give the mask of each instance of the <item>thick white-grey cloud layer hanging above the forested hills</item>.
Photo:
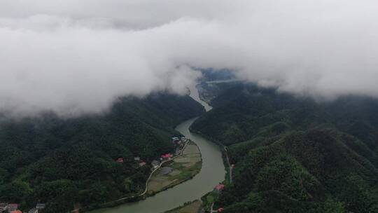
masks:
[(99, 112), (183, 94), (190, 67), (314, 97), (378, 97), (378, 2), (1, 0), (0, 111)]

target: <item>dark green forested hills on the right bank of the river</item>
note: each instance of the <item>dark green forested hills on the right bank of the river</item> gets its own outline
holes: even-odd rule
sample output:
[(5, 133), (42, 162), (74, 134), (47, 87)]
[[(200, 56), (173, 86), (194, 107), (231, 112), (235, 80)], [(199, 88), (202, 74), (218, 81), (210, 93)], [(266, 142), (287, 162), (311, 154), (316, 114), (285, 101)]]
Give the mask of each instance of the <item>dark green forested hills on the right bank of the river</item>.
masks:
[(378, 100), (295, 97), (250, 83), (202, 87), (192, 130), (228, 146), (224, 212), (378, 212)]

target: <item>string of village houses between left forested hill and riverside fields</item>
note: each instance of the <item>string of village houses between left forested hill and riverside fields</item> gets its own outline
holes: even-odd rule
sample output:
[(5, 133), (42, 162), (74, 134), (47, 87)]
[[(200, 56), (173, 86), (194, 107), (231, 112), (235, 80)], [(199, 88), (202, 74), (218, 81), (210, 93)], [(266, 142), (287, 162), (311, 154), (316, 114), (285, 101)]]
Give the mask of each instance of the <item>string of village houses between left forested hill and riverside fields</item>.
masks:
[[(181, 151), (183, 150), (183, 147), (185, 147), (185, 144), (188, 142), (188, 139), (185, 137), (172, 137), (172, 143), (174, 144), (174, 153), (165, 153), (162, 156), (160, 156), (159, 159), (153, 160), (151, 162), (152, 170), (155, 170), (159, 167), (160, 163), (171, 160), (174, 156), (179, 156), (181, 154)], [(147, 165), (147, 163), (144, 160), (141, 160), (140, 157), (135, 157), (134, 161), (138, 163), (139, 167), (143, 167)], [(117, 163), (124, 163), (125, 159), (123, 157), (116, 159)]]

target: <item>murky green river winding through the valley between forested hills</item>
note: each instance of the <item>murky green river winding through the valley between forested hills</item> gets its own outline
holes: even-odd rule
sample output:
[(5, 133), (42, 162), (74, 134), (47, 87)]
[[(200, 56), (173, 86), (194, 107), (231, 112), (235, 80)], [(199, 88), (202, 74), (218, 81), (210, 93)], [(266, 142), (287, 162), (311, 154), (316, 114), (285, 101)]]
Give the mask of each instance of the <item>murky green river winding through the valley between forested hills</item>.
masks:
[[(206, 102), (203, 102), (198, 90), (193, 86), (190, 88), (190, 97), (200, 102), (206, 109), (211, 110), (211, 107)], [(197, 200), (202, 195), (213, 190), (214, 186), (224, 180), (225, 166), (223, 165), (222, 153), (219, 146), (209, 142), (200, 135), (189, 131), (190, 125), (197, 118), (192, 118), (184, 121), (176, 127), (176, 130), (181, 132), (186, 138), (193, 140), (200, 147), (202, 153), (202, 169), (193, 179), (169, 188), (167, 191), (162, 191), (152, 197), (146, 198), (139, 202), (131, 202), (118, 207), (107, 209), (99, 209), (92, 211), (92, 213), (159, 213), (165, 212), (169, 209), (174, 209), (183, 205), (185, 202)]]

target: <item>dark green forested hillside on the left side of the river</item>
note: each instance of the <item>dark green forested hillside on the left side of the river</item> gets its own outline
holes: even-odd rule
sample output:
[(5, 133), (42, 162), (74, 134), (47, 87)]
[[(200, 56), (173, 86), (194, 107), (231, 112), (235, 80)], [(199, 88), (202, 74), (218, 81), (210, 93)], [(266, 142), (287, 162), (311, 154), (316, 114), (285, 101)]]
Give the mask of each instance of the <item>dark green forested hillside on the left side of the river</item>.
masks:
[[(173, 149), (174, 126), (199, 116), (188, 96), (123, 97), (101, 115), (8, 119), (0, 124), (0, 201), (68, 212), (144, 191), (151, 160)], [(148, 165), (139, 167), (134, 157)], [(123, 158), (123, 163), (116, 159)]]

